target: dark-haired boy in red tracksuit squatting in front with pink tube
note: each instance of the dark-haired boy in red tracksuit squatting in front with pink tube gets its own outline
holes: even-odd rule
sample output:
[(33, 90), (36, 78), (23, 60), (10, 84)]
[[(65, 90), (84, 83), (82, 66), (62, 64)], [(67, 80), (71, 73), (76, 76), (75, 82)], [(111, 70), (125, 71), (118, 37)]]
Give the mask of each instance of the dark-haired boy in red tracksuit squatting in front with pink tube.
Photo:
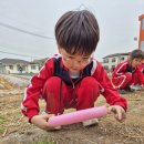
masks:
[[(25, 89), (22, 113), (29, 122), (43, 130), (54, 128), (48, 122), (53, 114), (63, 114), (70, 107), (93, 107), (100, 94), (116, 120), (124, 121), (126, 100), (113, 89), (103, 66), (93, 59), (100, 39), (94, 14), (88, 10), (64, 13), (55, 24), (55, 39), (61, 55), (49, 59)], [(39, 114), (40, 95), (45, 100), (47, 115)], [(89, 120), (83, 125), (94, 123), (95, 120)]]

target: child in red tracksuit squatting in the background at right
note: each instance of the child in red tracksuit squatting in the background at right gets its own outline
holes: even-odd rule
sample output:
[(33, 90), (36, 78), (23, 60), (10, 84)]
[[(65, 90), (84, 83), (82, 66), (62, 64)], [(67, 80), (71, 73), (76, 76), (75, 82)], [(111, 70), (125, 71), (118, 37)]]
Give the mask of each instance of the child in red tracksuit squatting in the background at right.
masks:
[(142, 64), (144, 53), (141, 50), (134, 50), (130, 53), (126, 61), (121, 62), (112, 73), (112, 83), (119, 89), (120, 93), (132, 92), (136, 90), (137, 83), (144, 84), (144, 79), (138, 66)]

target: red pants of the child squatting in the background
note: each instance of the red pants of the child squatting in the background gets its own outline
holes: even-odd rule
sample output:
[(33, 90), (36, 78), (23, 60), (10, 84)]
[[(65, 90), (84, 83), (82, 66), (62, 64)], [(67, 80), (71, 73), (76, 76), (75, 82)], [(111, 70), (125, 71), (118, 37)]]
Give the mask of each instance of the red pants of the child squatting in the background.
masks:
[(140, 78), (138, 73), (134, 72), (132, 73), (124, 73), (121, 76), (112, 78), (112, 83), (115, 88), (125, 89), (126, 86), (130, 86), (132, 84), (138, 84)]

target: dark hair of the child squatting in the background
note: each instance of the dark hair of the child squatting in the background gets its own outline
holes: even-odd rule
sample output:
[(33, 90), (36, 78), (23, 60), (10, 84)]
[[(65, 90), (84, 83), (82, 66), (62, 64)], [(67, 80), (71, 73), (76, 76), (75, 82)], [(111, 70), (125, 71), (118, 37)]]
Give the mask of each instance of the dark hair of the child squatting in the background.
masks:
[(144, 52), (142, 50), (134, 50), (130, 53), (130, 58), (131, 60), (134, 60), (134, 59), (144, 59)]

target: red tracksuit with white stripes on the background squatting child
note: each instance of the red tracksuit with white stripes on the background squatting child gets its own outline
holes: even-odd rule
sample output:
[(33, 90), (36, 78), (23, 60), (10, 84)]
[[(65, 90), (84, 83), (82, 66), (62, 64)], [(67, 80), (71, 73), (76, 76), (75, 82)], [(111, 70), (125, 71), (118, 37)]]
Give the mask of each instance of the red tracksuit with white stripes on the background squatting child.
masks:
[(115, 88), (125, 89), (130, 85), (144, 84), (144, 76), (138, 66), (133, 68), (128, 61), (117, 64), (112, 73), (112, 83)]

